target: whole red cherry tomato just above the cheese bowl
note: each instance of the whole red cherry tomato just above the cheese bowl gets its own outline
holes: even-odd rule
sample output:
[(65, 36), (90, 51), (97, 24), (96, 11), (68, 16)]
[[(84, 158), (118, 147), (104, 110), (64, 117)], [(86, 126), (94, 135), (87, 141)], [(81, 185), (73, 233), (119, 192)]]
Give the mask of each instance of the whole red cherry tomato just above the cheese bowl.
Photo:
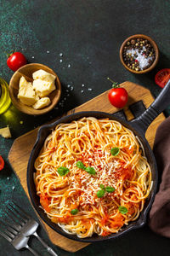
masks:
[(16, 71), (20, 67), (26, 65), (26, 57), (20, 52), (14, 52), (8, 57), (7, 65), (13, 71)]

